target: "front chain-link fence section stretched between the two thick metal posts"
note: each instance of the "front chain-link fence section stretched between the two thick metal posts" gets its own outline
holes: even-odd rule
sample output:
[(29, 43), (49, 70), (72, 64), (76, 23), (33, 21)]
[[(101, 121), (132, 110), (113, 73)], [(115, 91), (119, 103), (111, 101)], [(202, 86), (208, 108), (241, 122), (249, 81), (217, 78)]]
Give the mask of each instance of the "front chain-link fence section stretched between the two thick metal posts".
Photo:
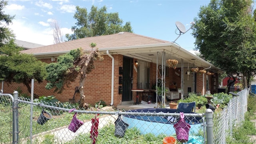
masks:
[[(42, 143), (46, 140), (47, 137), (52, 136), (54, 137), (54, 144), (69, 144), (74, 143), (75, 139), (79, 139), (79, 137), (83, 134), (87, 134), (87, 138), (90, 137), (90, 132), (92, 128), (91, 120), (95, 118), (99, 118), (98, 121), (98, 130), (103, 128), (110, 128), (115, 127), (114, 122), (117, 120), (118, 116), (122, 116), (122, 120), (129, 124), (128, 130), (132, 129), (136, 126), (137, 132), (140, 134), (148, 134), (152, 133), (154, 136), (176, 136), (173, 124), (168, 122), (168, 117), (177, 118), (180, 114), (177, 113), (163, 113), (163, 112), (122, 112), (122, 111), (107, 111), (107, 110), (100, 110), (100, 111), (91, 111), (91, 110), (74, 110), (71, 113), (68, 113), (72, 108), (72, 106), (63, 106), (59, 104), (58, 106), (52, 106), (54, 104), (38, 104), (34, 102), (29, 102), (28, 100), (18, 100), (19, 105), (22, 105), (22, 108), (25, 109), (26, 114), (23, 115), (22, 120), (20, 120), (19, 128), (22, 132), (20, 135), (20, 141), (22, 143), (32, 142), (32, 143)], [(28, 108), (30, 105), (33, 105), (33, 120), (32, 120), (32, 132), (29, 131), (29, 121), (30, 115)], [(52, 115), (52, 119), (45, 122), (45, 124), (40, 125), (38, 124), (38, 120), (40, 120), (40, 112), (42, 110), (50, 113)], [(21, 110), (19, 111), (20, 113)], [(82, 120), (84, 124), (76, 131), (72, 132), (68, 126), (72, 120), (72, 116), (74, 113), (78, 113), (77, 118)], [(100, 114), (99, 116), (97, 116)], [(204, 143), (204, 128), (203, 124), (203, 114), (185, 114), (186, 120), (190, 121), (191, 128), (190, 128), (190, 138), (199, 139), (200, 142)], [(144, 123), (138, 122), (135, 117), (143, 117)], [(159, 120), (160, 122), (150, 122), (149, 118), (152, 118), (151, 121)], [(42, 118), (41, 118), (42, 119)], [(87, 120), (85, 120), (87, 119)], [(199, 124), (192, 124), (192, 122), (199, 121)], [(22, 122), (23, 121), (23, 122)], [(125, 125), (121, 125), (124, 127)], [(32, 139), (29, 136), (32, 133)], [(103, 134), (103, 135), (102, 135)], [(114, 135), (114, 130), (110, 131), (108, 134), (102, 133), (98, 135), (97, 139), (101, 139), (110, 135)], [(118, 141), (121, 143), (133, 143), (127, 142), (126, 138), (118, 138)], [(149, 138), (150, 141), (150, 138)], [(151, 139), (153, 141), (153, 138)], [(88, 144), (91, 142), (89, 141)], [(108, 142), (105, 142), (108, 144)], [(159, 144), (162, 144), (162, 138), (160, 138)]]

